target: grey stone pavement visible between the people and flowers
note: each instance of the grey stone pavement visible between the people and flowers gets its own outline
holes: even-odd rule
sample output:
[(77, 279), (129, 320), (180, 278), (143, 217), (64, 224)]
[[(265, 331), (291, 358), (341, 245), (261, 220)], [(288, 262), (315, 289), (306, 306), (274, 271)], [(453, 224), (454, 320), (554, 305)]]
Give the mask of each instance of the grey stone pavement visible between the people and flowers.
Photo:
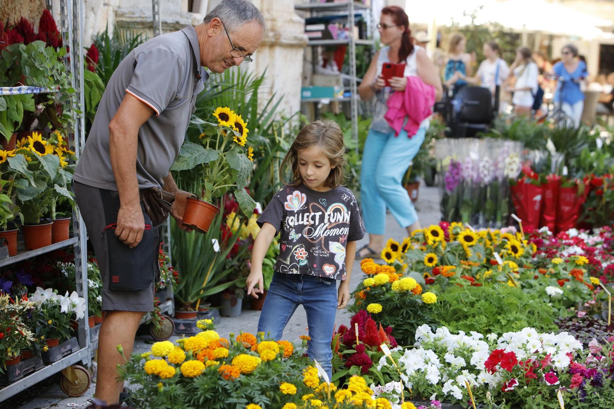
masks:
[[(421, 185), (419, 190), (419, 198), (415, 203), (416, 210), (421, 224), (430, 225), (437, 224), (440, 220), (441, 213), (439, 209), (439, 192), (437, 187), (426, 187)], [(392, 237), (397, 241), (403, 240), (406, 236), (404, 228), (399, 227), (397, 221), (391, 214), (386, 216), (386, 238)], [(367, 237), (357, 243), (357, 247), (360, 248), (363, 244), (368, 243)], [(350, 279), (350, 289), (354, 290), (360, 280), (363, 279), (363, 274), (360, 271), (360, 262), (354, 263), (352, 268), (352, 276)], [(249, 305), (249, 304), (248, 304)], [(222, 317), (220, 323), (217, 325), (217, 332), (220, 336), (227, 338), (228, 333), (238, 333), (239, 330), (243, 332), (255, 333), (258, 326), (258, 317), (260, 311), (243, 310), (243, 313), (239, 317)], [(338, 311), (336, 315), (336, 325), (348, 324), (351, 315), (347, 310)], [(303, 306), (299, 306), (295, 311), (292, 318), (288, 322), (286, 329), (284, 330), (284, 340), (300, 343), (298, 337), (300, 335), (306, 335), (307, 331), (307, 317)], [(171, 341), (176, 340), (178, 337), (171, 337)], [(134, 343), (134, 353), (143, 353), (150, 349), (152, 340), (147, 336), (137, 337)], [(92, 381), (90, 389), (85, 395), (78, 398), (66, 397), (66, 395), (60, 390), (57, 381), (47, 381), (37, 384), (26, 391), (21, 392), (22, 397), (30, 396), (31, 399), (23, 405), (12, 405), (10, 407), (17, 407), (20, 409), (47, 409), (47, 408), (85, 408), (88, 406), (87, 399), (90, 399), (95, 391), (96, 383)], [(19, 399), (23, 402), (23, 399)], [(2, 404), (4, 408), (4, 403)], [(9, 408), (9, 406), (6, 406)]]

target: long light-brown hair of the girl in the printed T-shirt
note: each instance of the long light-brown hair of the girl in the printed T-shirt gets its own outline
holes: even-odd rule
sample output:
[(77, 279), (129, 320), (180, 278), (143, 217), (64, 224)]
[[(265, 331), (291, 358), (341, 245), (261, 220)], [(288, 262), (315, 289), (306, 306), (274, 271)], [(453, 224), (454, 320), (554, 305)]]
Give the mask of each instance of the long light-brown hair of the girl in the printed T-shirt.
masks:
[[(300, 169), (298, 169), (298, 152), (317, 146), (326, 155), (330, 166), (335, 166), (330, 170), (330, 174), (325, 181), (325, 185), (330, 189), (335, 189), (345, 183), (344, 166), (348, 163), (343, 144), (343, 131), (336, 122), (332, 120), (317, 120), (305, 125), (297, 134), (297, 138), (292, 142), (290, 150), (279, 166), (279, 179), (282, 183), (290, 186), (298, 186), (302, 182)], [(286, 166), (292, 170), (292, 181), (284, 180)]]

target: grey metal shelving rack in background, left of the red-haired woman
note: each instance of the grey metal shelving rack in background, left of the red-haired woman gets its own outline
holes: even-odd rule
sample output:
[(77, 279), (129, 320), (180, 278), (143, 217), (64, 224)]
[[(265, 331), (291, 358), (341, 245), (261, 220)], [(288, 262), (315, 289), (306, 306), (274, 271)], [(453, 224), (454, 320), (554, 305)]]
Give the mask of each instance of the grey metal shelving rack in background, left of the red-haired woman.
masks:
[[(323, 15), (330, 15), (331, 12), (347, 12), (348, 26), (353, 28), (356, 25), (357, 11), (362, 12), (365, 20), (367, 21), (367, 37), (373, 37), (373, 13), (371, 7), (362, 3), (357, 3), (352, 0), (344, 2), (328, 2), (328, 3), (308, 3), (297, 4), (294, 6), (295, 10), (301, 10), (309, 12), (310, 17), (320, 17)], [(328, 101), (341, 101), (350, 103), (350, 119), (352, 122), (352, 138), (358, 140), (358, 85), (357, 82), (362, 81), (356, 75), (356, 45), (366, 45), (371, 47), (371, 53), (375, 52), (375, 41), (368, 39), (354, 39), (352, 33), (350, 33), (349, 39), (344, 40), (309, 40), (308, 47), (319, 47), (327, 45), (345, 45), (349, 47), (349, 76), (343, 76), (344, 79), (349, 79), (350, 86), (349, 91), (351, 96), (343, 98), (304, 98), (301, 99), (301, 103), (320, 103), (323, 100)], [(312, 64), (315, 66), (317, 50), (313, 49)], [(341, 69), (341, 67), (340, 67)], [(356, 148), (358, 149), (358, 147)]]

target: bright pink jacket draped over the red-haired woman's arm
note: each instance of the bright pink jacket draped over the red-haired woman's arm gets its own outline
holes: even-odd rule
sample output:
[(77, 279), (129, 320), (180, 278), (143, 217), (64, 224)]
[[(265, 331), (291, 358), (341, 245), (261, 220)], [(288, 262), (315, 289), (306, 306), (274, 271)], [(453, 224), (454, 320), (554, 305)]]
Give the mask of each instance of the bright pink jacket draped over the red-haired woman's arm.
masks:
[[(388, 111), (384, 119), (394, 129), (395, 136), (401, 128), (407, 131), (407, 137), (411, 138), (418, 132), (420, 123), (432, 114), (431, 107), (435, 104), (435, 87), (422, 82), (419, 77), (407, 77), (405, 92), (392, 93), (386, 105)], [(405, 127), (403, 122), (408, 118)]]

